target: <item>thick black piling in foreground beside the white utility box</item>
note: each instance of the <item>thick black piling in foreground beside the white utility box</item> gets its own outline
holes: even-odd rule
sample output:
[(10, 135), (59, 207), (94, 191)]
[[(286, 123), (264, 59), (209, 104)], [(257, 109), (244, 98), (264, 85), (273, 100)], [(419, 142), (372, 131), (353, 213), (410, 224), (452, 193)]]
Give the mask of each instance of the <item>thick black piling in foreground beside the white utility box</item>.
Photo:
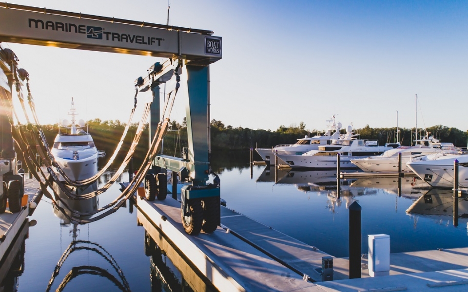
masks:
[(361, 277), (361, 206), (350, 205), (350, 279)]

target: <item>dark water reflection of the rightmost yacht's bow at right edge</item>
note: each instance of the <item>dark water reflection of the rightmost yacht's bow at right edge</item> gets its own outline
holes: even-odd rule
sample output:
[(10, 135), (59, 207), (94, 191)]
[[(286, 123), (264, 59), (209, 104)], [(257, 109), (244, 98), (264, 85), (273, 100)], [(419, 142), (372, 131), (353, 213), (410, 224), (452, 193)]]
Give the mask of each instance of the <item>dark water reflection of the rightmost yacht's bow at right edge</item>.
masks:
[[(453, 216), (453, 191), (431, 189), (409, 206), (406, 213), (423, 216)], [(458, 218), (468, 218), (468, 198), (458, 198)]]

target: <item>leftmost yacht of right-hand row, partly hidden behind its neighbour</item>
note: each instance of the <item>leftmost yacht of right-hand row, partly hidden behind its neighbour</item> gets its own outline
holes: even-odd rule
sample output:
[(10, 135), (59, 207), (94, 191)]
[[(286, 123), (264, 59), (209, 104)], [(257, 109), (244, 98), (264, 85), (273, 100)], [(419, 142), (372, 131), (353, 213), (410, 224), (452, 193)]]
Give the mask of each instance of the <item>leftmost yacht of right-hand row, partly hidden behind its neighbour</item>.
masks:
[(314, 135), (313, 137), (305, 136), (302, 139), (297, 139), (295, 144), (276, 145), (273, 148), (255, 148), (255, 151), (260, 154), (263, 161), (274, 164), (274, 154), (293, 154), (302, 155), (311, 150), (318, 150), (319, 146), (330, 145), (331, 140), (340, 138), (341, 123), (335, 124), (334, 116), (331, 122), (330, 129), (323, 135)]

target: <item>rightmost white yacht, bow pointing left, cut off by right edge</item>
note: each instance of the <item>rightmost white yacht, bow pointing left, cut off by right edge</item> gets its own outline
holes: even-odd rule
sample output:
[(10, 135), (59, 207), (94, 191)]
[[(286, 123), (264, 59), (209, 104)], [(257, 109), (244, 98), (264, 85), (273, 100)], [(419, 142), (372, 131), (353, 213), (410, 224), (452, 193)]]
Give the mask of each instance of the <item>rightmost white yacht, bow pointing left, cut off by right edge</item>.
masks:
[(458, 160), (458, 185), (468, 187), (468, 154), (433, 153), (412, 159), (406, 165), (434, 188), (453, 188), (453, 163)]

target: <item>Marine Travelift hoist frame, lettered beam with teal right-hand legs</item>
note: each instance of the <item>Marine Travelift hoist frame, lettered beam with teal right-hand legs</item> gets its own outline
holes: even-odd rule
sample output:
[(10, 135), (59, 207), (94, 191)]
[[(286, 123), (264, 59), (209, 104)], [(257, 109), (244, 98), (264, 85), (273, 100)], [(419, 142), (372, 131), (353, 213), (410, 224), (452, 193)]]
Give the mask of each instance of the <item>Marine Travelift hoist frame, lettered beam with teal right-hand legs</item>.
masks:
[[(209, 221), (215, 221), (216, 225), (220, 222), (219, 188), (206, 183), (211, 152), (209, 65), (222, 58), (222, 37), (212, 35), (213, 31), (209, 30), (0, 3), (0, 42), (169, 58), (162, 65), (152, 65), (143, 78), (151, 80), (150, 89), (154, 97), (151, 132), (160, 121), (159, 84), (168, 81), (174, 70), (182, 67), (188, 80), (188, 153), (182, 159), (157, 156), (152, 172), (157, 175), (164, 168), (170, 169), (177, 172), (181, 180), (192, 183), (185, 186), (181, 194), (182, 221), (191, 222), (192, 225), (194, 219), (196, 221), (195, 230), (188, 230), (184, 224), (191, 234), (199, 232), (197, 229), (207, 221), (199, 216), (194, 218), (193, 210), (200, 210), (200, 206), (196, 205), (198, 203), (203, 204), (203, 214), (211, 216)], [(176, 61), (177, 68), (174, 67)], [(151, 134), (154, 135), (154, 132)], [(206, 203), (213, 200), (217, 200), (217, 207)], [(213, 216), (217, 218), (213, 219)], [(203, 228), (208, 232), (211, 229)]]

